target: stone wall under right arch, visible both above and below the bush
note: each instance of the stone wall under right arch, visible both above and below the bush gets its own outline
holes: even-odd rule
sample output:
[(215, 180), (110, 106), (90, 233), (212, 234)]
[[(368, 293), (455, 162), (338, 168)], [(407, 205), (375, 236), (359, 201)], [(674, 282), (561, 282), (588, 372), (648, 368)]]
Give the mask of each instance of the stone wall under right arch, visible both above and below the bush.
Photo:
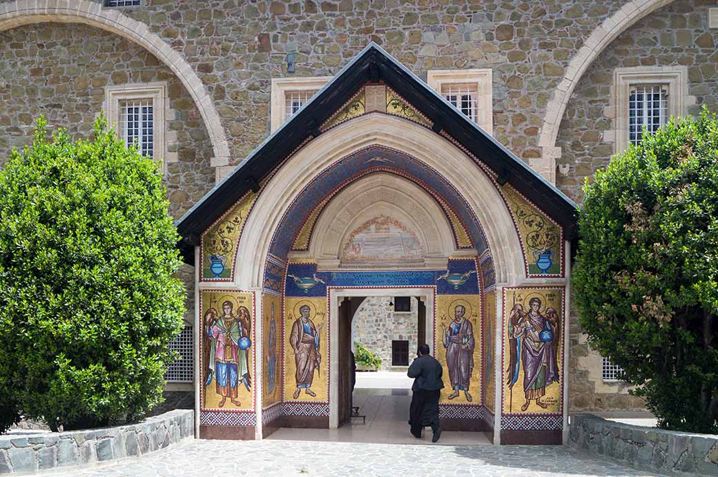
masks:
[[(714, 2), (679, 0), (658, 9), (620, 34), (579, 80), (556, 142), (562, 152), (559, 162), (569, 165), (568, 175), (556, 176), (556, 185), (569, 198), (582, 202), (584, 180), (605, 167), (614, 152), (610, 106), (615, 68), (687, 66), (689, 95), (696, 98), (689, 114), (697, 114), (702, 105), (718, 111), (718, 29), (708, 28), (709, 6)], [(600, 357), (589, 348), (575, 311), (570, 339), (571, 409), (644, 407), (642, 399), (628, 394), (625, 384), (604, 384), (600, 368), (587, 368), (600, 363)]]

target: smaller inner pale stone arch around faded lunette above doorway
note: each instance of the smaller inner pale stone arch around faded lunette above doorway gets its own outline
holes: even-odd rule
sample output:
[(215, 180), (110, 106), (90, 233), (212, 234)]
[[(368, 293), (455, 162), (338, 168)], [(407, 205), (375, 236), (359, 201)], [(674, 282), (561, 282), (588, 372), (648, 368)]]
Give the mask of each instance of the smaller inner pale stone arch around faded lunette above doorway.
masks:
[(426, 190), (405, 177), (376, 172), (332, 198), (314, 224), (317, 233), (312, 233), (308, 251), (292, 252), (291, 257), (316, 259), (319, 269), (336, 268), (350, 234), (379, 215), (401, 219), (416, 234), (423, 267), (445, 267), (449, 256), (476, 254), (473, 249), (456, 249), (451, 224)]

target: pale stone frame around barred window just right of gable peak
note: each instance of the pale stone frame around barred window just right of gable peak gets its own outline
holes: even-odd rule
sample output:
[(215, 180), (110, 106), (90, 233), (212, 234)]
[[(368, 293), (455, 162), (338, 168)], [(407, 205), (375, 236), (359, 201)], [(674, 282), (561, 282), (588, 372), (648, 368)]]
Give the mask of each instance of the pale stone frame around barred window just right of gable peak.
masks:
[(472, 70), (429, 70), (426, 74), (426, 84), (434, 91), (442, 94), (444, 85), (475, 85), (476, 98), (476, 124), (481, 129), (493, 135), (493, 72), (491, 68), (477, 68)]

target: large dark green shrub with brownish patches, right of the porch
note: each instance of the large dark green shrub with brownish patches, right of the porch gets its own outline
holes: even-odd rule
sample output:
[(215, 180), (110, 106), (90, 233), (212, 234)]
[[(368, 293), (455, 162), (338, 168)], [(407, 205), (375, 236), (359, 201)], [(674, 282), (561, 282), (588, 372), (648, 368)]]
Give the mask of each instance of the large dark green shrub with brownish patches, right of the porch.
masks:
[(584, 186), (574, 297), (660, 427), (717, 432), (718, 121), (671, 121)]

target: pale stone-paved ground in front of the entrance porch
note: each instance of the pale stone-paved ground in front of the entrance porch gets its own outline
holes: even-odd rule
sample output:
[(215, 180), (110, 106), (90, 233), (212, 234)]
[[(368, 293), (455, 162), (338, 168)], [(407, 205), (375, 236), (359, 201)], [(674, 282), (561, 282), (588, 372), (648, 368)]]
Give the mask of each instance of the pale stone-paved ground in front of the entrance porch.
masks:
[(190, 440), (77, 477), (194, 476), (651, 476), (561, 446), (388, 445)]

